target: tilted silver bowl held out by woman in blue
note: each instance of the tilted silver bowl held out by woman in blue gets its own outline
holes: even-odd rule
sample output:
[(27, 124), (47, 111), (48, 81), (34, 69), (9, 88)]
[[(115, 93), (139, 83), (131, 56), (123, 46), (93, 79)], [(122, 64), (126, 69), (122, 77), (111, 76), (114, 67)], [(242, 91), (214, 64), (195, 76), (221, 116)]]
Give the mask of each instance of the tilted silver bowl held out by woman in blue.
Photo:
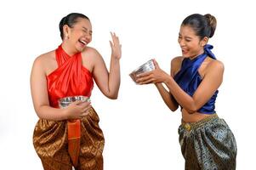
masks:
[(134, 82), (136, 82), (137, 75), (148, 71), (154, 71), (155, 69), (156, 67), (154, 65), (153, 59), (151, 59), (145, 64), (140, 65), (139, 68), (137, 68), (136, 70), (132, 71), (129, 76), (134, 80)]

